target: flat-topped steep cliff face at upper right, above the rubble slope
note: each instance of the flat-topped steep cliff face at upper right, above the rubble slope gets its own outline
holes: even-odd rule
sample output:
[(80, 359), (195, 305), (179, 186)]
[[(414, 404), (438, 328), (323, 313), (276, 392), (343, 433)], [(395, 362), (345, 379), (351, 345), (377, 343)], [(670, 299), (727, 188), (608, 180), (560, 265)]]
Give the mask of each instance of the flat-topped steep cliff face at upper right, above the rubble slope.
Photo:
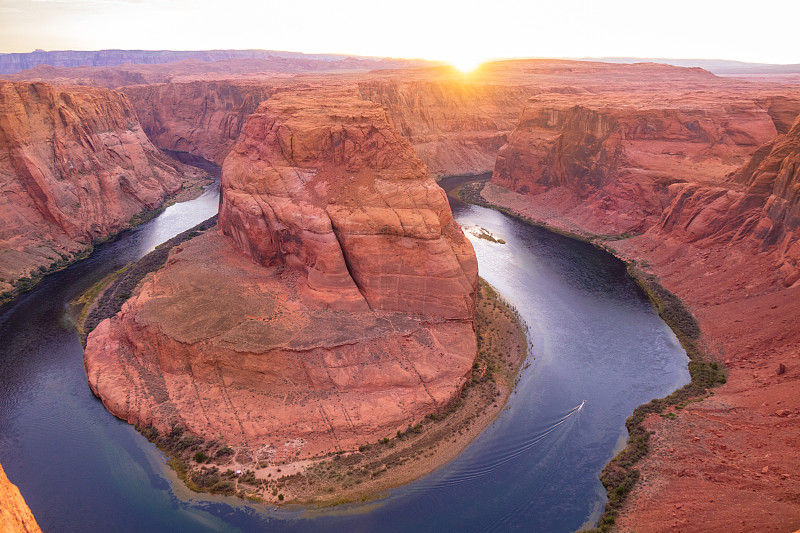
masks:
[(492, 183), (540, 197), (593, 232), (643, 231), (658, 222), (670, 184), (719, 182), (777, 134), (752, 100), (635, 98), (532, 98)]

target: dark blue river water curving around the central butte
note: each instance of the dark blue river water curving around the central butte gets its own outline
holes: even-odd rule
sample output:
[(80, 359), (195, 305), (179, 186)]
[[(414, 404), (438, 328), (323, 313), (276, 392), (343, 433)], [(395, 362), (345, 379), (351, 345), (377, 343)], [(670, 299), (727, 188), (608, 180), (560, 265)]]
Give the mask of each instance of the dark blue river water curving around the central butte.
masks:
[(451, 200), (468, 233), (505, 240), (471, 237), (481, 275), (530, 328), (530, 365), (498, 419), (454, 461), (367, 504), (274, 511), (189, 493), (92, 395), (66, 310), (107, 273), (216, 213), (218, 194), (212, 186), (169, 207), (0, 315), (0, 463), (44, 531), (574, 531), (605, 504), (598, 476), (624, 442), (625, 418), (689, 380), (677, 339), (620, 261)]

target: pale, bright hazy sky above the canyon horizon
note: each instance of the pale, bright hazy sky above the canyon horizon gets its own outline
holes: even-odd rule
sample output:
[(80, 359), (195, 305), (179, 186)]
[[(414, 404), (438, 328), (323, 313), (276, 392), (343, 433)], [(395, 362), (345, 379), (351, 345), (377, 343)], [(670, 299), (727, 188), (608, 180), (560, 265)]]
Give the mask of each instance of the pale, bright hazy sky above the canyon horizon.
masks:
[(0, 52), (262, 48), (800, 63), (800, 0), (0, 0)]

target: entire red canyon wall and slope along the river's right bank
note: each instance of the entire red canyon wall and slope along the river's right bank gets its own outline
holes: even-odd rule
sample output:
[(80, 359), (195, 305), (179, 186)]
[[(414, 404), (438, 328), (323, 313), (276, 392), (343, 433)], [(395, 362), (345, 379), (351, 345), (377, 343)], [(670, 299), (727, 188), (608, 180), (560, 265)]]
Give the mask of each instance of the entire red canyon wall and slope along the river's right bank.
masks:
[(533, 99), (482, 192), (551, 226), (611, 234), (600, 241), (681, 298), (727, 369), (712, 395), (647, 418), (620, 531), (800, 527), (800, 121), (788, 93)]

